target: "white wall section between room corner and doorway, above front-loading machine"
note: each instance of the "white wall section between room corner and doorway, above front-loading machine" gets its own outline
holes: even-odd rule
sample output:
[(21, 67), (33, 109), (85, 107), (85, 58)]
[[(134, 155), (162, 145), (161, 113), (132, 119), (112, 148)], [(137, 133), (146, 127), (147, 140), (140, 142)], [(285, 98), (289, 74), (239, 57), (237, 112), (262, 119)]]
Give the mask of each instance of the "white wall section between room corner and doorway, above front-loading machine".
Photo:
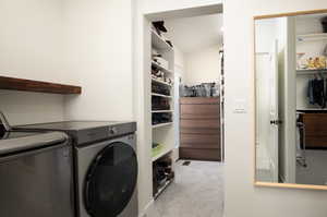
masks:
[(131, 0), (65, 1), (65, 64), (83, 87), (70, 119), (133, 119), (132, 15)]

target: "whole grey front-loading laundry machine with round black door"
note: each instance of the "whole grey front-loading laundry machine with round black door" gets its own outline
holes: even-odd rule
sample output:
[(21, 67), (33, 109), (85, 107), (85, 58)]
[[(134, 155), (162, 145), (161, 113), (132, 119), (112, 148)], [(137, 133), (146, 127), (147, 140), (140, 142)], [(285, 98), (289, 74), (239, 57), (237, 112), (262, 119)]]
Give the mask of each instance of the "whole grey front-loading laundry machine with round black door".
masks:
[(135, 122), (68, 121), (23, 128), (63, 131), (72, 137), (76, 216), (138, 216)]

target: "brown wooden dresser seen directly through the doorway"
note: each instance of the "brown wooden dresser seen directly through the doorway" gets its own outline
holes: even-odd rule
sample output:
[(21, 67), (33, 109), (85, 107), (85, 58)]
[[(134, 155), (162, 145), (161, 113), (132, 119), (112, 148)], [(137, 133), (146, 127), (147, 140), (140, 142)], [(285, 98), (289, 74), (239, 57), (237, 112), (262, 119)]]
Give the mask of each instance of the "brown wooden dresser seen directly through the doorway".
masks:
[(219, 98), (182, 97), (181, 159), (221, 160)]

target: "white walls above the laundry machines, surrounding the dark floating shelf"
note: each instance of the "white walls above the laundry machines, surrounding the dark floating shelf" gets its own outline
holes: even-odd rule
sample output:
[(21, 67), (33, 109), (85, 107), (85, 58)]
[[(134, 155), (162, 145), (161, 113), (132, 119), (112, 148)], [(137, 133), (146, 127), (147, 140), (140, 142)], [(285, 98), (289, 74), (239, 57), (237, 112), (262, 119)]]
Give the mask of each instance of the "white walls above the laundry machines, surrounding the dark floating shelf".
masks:
[[(83, 87), (81, 96), (33, 95), (47, 98), (33, 107), (10, 93), (1, 100), (10, 122), (133, 119), (131, 0), (2, 0), (0, 10), (1, 75)], [(26, 112), (44, 108), (57, 109)]]

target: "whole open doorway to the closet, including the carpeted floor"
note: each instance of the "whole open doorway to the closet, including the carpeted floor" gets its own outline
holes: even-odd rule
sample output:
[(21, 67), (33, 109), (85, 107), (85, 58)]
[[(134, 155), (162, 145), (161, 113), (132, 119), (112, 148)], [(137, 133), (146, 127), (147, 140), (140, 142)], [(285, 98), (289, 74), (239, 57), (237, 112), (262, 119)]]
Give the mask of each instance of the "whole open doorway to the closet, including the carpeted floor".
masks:
[[(205, 216), (222, 216), (223, 164), (221, 156), (223, 156), (223, 148), (210, 146), (216, 142), (220, 145), (222, 140), (220, 133), (223, 133), (220, 130), (222, 123), (220, 116), (217, 116), (221, 105), (223, 105), (219, 98), (221, 92), (220, 74), (222, 71), (221, 55), (219, 55), (222, 52), (222, 5), (217, 5), (216, 9), (213, 11), (213, 8), (208, 7), (208, 10), (202, 8), (199, 11), (192, 9), (147, 14), (144, 20), (143, 85), (141, 87), (144, 94), (142, 122), (145, 129), (145, 145), (143, 154), (148, 153), (149, 158), (143, 162), (149, 165), (147, 167), (149, 168), (153, 185), (150, 196), (154, 198), (146, 204), (147, 207), (153, 207), (149, 208), (153, 213), (148, 216), (183, 216), (189, 214), (187, 216), (192, 217), (192, 215), (199, 215), (201, 213), (195, 214), (196, 212), (193, 209), (196, 207), (196, 200), (194, 198), (198, 198), (196, 196), (201, 195), (204, 190), (206, 193), (198, 198), (202, 200), (203, 206), (197, 207), (197, 212), (202, 212)], [(197, 24), (196, 26), (196, 20), (202, 20), (202, 25)], [(205, 26), (210, 22), (214, 23), (214, 27)], [(155, 25), (157, 27), (154, 27)], [(178, 27), (179, 25), (185, 27)], [(204, 27), (204, 31), (199, 29), (201, 27)], [(167, 34), (161, 34), (157, 28), (164, 33), (167, 32)], [(186, 29), (191, 29), (189, 34)], [(206, 31), (209, 35), (210, 32), (217, 33), (217, 38), (202, 37), (207, 34)], [(195, 35), (202, 38), (196, 39)], [(178, 39), (179, 37), (180, 39)], [(186, 39), (189, 41), (184, 41)], [(204, 41), (207, 44), (204, 45)], [(209, 64), (207, 63), (208, 57), (213, 58), (209, 60)], [(209, 69), (208, 65), (211, 64), (215, 64), (215, 67)], [(198, 70), (198, 68), (202, 70)], [(189, 73), (191, 70), (194, 72)], [(208, 72), (209, 70), (215, 72)], [(205, 87), (203, 83), (208, 84), (208, 89), (203, 88), (203, 95), (201, 95), (201, 92), (196, 92), (196, 87)], [(191, 97), (185, 94), (187, 88), (194, 89), (195, 95)], [(180, 104), (182, 101), (181, 96), (185, 98), (185, 101), (196, 100), (197, 97), (202, 99), (199, 99), (199, 103), (185, 103), (187, 106), (183, 107)], [(181, 109), (181, 107), (185, 109)], [(183, 119), (182, 112), (185, 111), (191, 111), (191, 113), (184, 113), (186, 116), (195, 112), (193, 113), (195, 118)], [(196, 111), (202, 111), (202, 113), (197, 114)], [(213, 122), (214, 119), (217, 121)], [(186, 124), (191, 122), (199, 128), (192, 126), (193, 132), (181, 133), (181, 126), (185, 122)], [(192, 128), (187, 130), (192, 131)], [(203, 146), (195, 148), (182, 147), (182, 144), (187, 146), (187, 143), (189, 146), (194, 143), (196, 143), (195, 146), (198, 144), (203, 144)], [(193, 153), (189, 152), (187, 156), (185, 148), (187, 150), (192, 149)], [(195, 156), (198, 154), (195, 149), (198, 153), (207, 152), (205, 155), (203, 153), (201, 155), (211, 157), (198, 158)], [(206, 182), (203, 176), (207, 177), (206, 181), (211, 180), (210, 183)], [(199, 182), (201, 179), (204, 182)], [(195, 184), (193, 189), (189, 185), (190, 183)], [(194, 186), (196, 188), (194, 189)], [(172, 201), (178, 198), (183, 198), (182, 206), (178, 206), (178, 203), (172, 204)], [(210, 209), (211, 207), (217, 208), (217, 204), (218, 209)], [(144, 213), (146, 214), (146, 212)]]

